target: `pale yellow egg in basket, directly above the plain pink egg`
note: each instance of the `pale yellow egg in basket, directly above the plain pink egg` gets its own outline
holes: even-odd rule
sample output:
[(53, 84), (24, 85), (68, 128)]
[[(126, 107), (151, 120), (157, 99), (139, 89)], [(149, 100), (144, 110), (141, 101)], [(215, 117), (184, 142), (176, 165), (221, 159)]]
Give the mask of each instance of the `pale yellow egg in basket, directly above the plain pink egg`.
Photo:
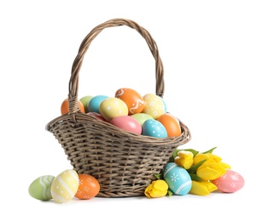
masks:
[(127, 116), (128, 107), (125, 102), (118, 98), (103, 99), (100, 107), (100, 114), (106, 121), (110, 121), (115, 116)]

